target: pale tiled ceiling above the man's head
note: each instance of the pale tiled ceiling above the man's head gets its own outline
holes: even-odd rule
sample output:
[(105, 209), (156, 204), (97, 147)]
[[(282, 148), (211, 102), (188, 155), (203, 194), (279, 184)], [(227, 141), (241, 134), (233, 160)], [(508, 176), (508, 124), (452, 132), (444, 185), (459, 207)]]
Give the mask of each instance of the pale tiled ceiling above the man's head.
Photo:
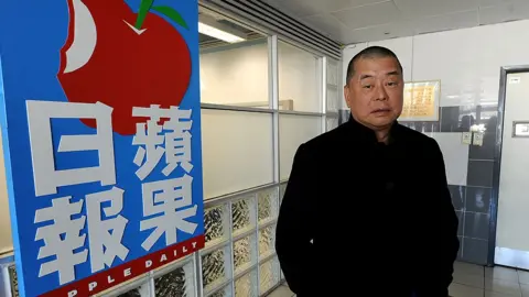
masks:
[(344, 44), (529, 19), (529, 0), (262, 0)]

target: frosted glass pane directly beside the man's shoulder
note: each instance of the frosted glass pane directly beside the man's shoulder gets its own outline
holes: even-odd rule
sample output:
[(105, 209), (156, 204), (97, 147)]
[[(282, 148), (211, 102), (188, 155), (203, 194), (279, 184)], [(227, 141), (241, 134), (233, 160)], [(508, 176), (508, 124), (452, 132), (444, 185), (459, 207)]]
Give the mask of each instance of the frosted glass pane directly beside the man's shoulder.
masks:
[(288, 179), (292, 169), (292, 161), (300, 144), (317, 136), (322, 131), (322, 118), (280, 114), (279, 116), (279, 145), (280, 145), (280, 177)]

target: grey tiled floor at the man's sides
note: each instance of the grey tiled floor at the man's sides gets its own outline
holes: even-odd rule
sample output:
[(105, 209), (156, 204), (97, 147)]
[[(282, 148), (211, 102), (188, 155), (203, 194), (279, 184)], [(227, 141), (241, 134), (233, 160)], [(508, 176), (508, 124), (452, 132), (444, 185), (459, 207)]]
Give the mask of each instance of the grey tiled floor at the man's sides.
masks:
[[(529, 297), (529, 272), (460, 262), (454, 268), (454, 282), (450, 287), (453, 297)], [(293, 295), (287, 285), (282, 285), (269, 296)]]

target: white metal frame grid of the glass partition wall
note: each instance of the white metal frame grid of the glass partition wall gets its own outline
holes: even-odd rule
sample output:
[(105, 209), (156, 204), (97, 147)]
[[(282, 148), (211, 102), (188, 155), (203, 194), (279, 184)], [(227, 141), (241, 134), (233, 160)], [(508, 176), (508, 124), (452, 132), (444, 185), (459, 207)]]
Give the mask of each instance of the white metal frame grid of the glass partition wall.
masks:
[[(238, 23), (241, 23), (238, 21)], [(255, 26), (252, 26), (255, 30)], [(256, 30), (259, 32), (259, 30)], [(188, 296), (196, 296), (196, 297), (208, 297), (208, 296), (235, 296), (236, 292), (236, 283), (241, 277), (252, 274), (251, 276), (255, 279), (255, 284), (252, 284), (252, 295), (251, 296), (266, 296), (278, 286), (284, 282), (284, 278), (281, 274), (279, 268), (279, 263), (277, 262), (277, 255), (273, 251), (273, 242), (274, 242), (274, 230), (272, 232), (272, 252), (260, 256), (259, 255), (259, 237), (260, 231), (269, 228), (274, 227), (277, 223), (277, 216), (279, 213), (279, 206), (281, 204), (282, 194), (284, 191), (284, 187), (288, 180), (280, 180), (280, 133), (279, 131), (279, 121), (280, 114), (293, 114), (298, 117), (315, 117), (321, 119), (321, 128), (322, 130), (320, 133), (325, 131), (330, 131), (337, 127), (338, 122), (338, 110), (333, 109), (330, 110), (330, 106), (327, 105), (327, 72), (330, 70), (330, 63), (337, 65), (337, 80), (341, 80), (341, 61), (336, 61), (333, 58), (327, 58), (325, 55), (321, 53), (314, 52), (311, 48), (304, 47), (302, 44), (289, 41), (284, 37), (278, 35), (270, 35), (266, 32), (260, 32), (264, 35), (268, 35), (268, 54), (269, 54), (269, 108), (251, 108), (251, 107), (238, 107), (238, 106), (223, 106), (223, 105), (210, 105), (210, 103), (202, 103), (202, 109), (213, 109), (213, 110), (226, 110), (226, 111), (240, 111), (240, 112), (259, 112), (259, 113), (270, 113), (272, 114), (272, 130), (273, 130), (273, 183), (269, 185), (263, 185), (261, 187), (247, 189), (240, 193), (229, 194), (222, 197), (216, 197), (213, 199), (205, 200), (204, 209), (208, 211), (212, 208), (223, 207), (226, 209), (225, 211), (225, 230), (227, 230), (227, 234), (225, 239), (214, 242), (206, 243), (206, 248), (199, 252), (194, 253), (185, 258), (179, 260), (175, 263), (171, 263), (164, 267), (150, 272), (145, 275), (139, 276), (131, 282), (128, 282), (123, 285), (120, 285), (117, 288), (112, 288), (109, 292), (99, 294), (98, 296), (120, 296), (131, 289), (142, 287), (141, 294), (142, 297), (154, 297), (155, 296), (155, 279), (168, 275), (176, 270), (183, 270), (185, 273), (186, 279), (186, 292)], [(298, 47), (300, 51), (309, 52), (315, 55), (319, 58), (319, 72), (321, 74), (321, 87), (320, 87), (320, 110), (317, 112), (305, 112), (305, 111), (295, 111), (295, 110), (281, 110), (279, 106), (279, 84), (278, 84), (278, 76), (279, 76), (279, 62), (278, 62), (278, 42), (284, 42), (290, 45)], [(339, 84), (339, 82), (338, 82)], [(339, 86), (334, 86), (338, 88)], [(338, 91), (339, 94), (339, 91)], [(339, 99), (339, 98), (338, 98)], [(338, 100), (339, 102), (339, 100)], [(338, 106), (336, 103), (336, 107)], [(259, 221), (258, 213), (259, 213), (259, 195), (262, 193), (273, 193), (271, 196), (272, 201), (271, 204), (274, 205), (272, 207), (271, 217), (268, 220)], [(247, 200), (249, 206), (252, 208), (250, 221), (252, 223), (251, 228), (244, 230), (242, 232), (234, 232), (234, 224), (233, 224), (233, 206), (240, 200)], [(207, 232), (207, 230), (206, 230)], [(251, 237), (251, 244), (252, 249), (257, 249), (255, 258), (251, 258), (250, 265), (244, 267), (241, 271), (237, 271), (234, 263), (234, 243), (240, 239), (245, 239), (247, 237)], [(203, 286), (203, 258), (212, 253), (224, 249), (225, 251), (225, 279), (218, 283), (214, 283), (212, 286), (204, 287)], [(274, 263), (272, 263), (274, 262)], [(3, 263), (3, 264), (2, 264)], [(276, 265), (277, 268), (277, 282), (272, 284), (270, 287), (261, 289), (261, 265), (272, 263)], [(15, 282), (12, 279), (12, 274), (10, 275), (10, 270), (13, 270), (13, 256), (4, 256), (3, 261), (0, 256), (0, 295), (6, 297), (14, 297), (18, 295), (12, 296), (12, 288), (11, 284)], [(225, 289), (225, 295), (216, 295), (220, 290)], [(15, 293), (17, 294), (17, 293)], [(245, 296), (246, 297), (246, 296)]]

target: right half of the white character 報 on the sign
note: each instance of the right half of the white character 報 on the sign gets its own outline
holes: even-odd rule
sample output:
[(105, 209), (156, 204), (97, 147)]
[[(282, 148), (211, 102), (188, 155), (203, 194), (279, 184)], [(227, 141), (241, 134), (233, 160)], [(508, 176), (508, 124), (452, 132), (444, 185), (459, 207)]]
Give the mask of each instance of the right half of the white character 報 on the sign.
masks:
[[(110, 202), (104, 207), (102, 204)], [(102, 213), (101, 213), (102, 207)], [(125, 261), (129, 249), (121, 244), (128, 220), (119, 215), (123, 209), (123, 190), (114, 187), (110, 190), (86, 196), (86, 216), (88, 219), (88, 243), (90, 246), (91, 272), (110, 267), (116, 256)], [(102, 215), (105, 218), (102, 219)], [(115, 218), (109, 218), (115, 217)], [(111, 231), (111, 232), (110, 232)]]

